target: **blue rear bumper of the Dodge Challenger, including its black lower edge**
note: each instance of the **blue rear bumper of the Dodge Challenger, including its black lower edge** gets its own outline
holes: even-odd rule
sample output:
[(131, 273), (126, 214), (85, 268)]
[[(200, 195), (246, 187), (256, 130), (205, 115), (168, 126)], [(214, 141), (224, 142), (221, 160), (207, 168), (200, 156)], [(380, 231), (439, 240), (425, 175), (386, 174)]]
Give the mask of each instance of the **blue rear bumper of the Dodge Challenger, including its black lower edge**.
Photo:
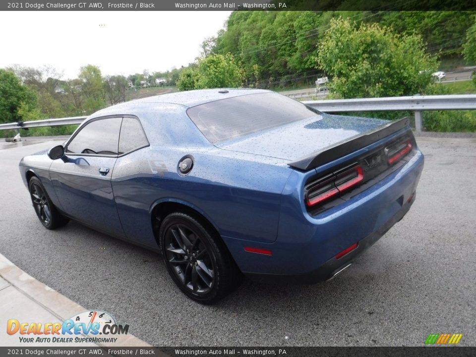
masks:
[[(265, 244), (229, 237), (224, 240), (240, 270), (252, 278), (301, 282), (327, 280), (405, 216), (415, 200), (423, 162), (423, 155), (418, 150), (397, 171), (317, 216), (305, 212), (303, 198), (298, 196), (302, 187), (291, 182), (294, 190), (283, 195), (275, 242)], [(358, 243), (356, 249), (335, 258), (355, 243)], [(270, 250), (272, 254), (250, 253), (244, 246)]]

